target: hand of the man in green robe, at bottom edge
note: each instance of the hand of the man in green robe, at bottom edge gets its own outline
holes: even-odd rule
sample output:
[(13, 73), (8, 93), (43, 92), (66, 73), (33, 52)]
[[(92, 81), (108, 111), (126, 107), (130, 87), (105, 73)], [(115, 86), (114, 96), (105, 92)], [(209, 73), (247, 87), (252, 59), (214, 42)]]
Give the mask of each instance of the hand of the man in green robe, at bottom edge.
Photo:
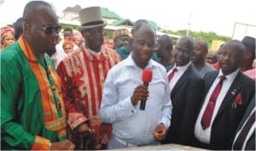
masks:
[(49, 150), (73, 150), (74, 148), (75, 145), (72, 142), (64, 140), (58, 143), (51, 143)]

